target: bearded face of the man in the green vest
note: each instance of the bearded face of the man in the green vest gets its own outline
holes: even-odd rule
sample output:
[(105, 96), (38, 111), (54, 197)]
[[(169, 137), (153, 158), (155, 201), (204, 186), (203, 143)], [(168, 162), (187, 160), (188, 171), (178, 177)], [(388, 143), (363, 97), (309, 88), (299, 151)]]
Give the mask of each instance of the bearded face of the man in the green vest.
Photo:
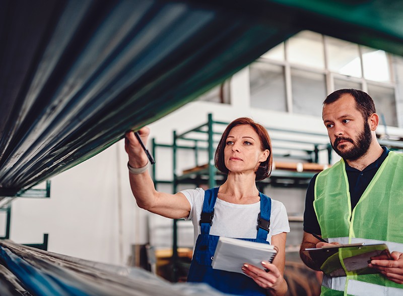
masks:
[(356, 108), (353, 96), (344, 94), (339, 100), (324, 105), (322, 114), (330, 144), (337, 154), (356, 160), (367, 153), (372, 141), (371, 129)]

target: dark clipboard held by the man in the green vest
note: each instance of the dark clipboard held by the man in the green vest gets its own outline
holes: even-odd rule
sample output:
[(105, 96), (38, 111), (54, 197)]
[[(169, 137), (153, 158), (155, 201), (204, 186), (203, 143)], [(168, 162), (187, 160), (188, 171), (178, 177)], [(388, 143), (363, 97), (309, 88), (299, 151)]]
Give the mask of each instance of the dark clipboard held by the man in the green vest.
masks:
[(378, 270), (368, 267), (371, 258), (379, 256), (377, 259), (392, 260), (386, 244), (334, 245), (334, 247), (305, 249), (302, 252), (329, 276), (379, 273)]

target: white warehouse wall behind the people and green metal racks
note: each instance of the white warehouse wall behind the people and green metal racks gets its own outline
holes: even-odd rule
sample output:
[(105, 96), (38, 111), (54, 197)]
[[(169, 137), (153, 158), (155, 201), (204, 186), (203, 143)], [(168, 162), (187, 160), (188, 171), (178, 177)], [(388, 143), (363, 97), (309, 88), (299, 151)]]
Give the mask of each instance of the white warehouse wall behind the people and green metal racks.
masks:
[[(230, 122), (236, 117), (249, 116), (266, 127), (325, 133), (320, 118), (250, 108), (247, 70), (231, 79), (231, 100), (231, 105), (201, 101), (188, 103), (150, 125), (150, 138), (171, 144), (173, 130), (181, 133), (206, 123), (210, 112), (218, 121)], [(170, 246), (172, 221), (148, 215), (133, 200), (123, 146), (123, 141), (120, 141), (53, 177), (50, 199), (15, 200), (12, 204), (11, 240), (39, 243), (43, 233), (49, 233), (49, 251), (98, 262), (126, 264), (130, 246), (148, 241), (147, 217), (150, 216), (152, 242)], [(171, 155), (169, 151), (156, 155), (159, 179), (172, 178)], [(169, 192), (170, 188), (163, 190)], [(282, 201), (289, 213), (303, 213), (304, 190), (267, 190), (269, 192), (265, 193)], [(0, 221), (0, 227), (5, 227), (4, 223)], [(189, 242), (191, 245), (191, 228), (186, 225), (182, 228), (179, 245), (188, 245)]]

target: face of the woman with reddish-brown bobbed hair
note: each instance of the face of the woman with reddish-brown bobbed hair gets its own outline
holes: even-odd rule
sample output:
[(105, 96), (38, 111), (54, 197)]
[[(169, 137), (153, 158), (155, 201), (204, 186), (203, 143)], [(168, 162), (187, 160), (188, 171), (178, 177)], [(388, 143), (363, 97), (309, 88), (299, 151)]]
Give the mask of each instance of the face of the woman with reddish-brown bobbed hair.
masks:
[(269, 151), (261, 150), (261, 142), (249, 125), (231, 129), (224, 148), (225, 166), (231, 172), (255, 172), (260, 162), (267, 159)]

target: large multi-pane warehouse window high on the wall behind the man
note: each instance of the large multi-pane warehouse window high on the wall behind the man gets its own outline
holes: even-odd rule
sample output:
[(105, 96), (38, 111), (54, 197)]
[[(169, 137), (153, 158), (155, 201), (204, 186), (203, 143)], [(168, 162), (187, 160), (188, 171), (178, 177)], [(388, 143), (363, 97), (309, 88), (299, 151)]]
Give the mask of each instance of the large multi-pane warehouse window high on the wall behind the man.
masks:
[(386, 125), (397, 127), (389, 58), (383, 50), (302, 31), (249, 67), (250, 105), (318, 116), (327, 94), (356, 88), (373, 97)]

